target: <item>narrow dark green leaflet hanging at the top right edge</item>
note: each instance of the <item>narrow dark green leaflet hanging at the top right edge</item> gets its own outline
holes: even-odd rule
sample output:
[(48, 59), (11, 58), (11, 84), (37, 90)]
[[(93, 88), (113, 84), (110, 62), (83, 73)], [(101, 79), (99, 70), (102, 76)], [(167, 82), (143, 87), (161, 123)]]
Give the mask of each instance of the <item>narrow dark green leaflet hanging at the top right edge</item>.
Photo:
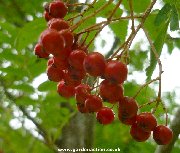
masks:
[(170, 30), (175, 31), (179, 29), (179, 18), (178, 12), (175, 5), (172, 5), (172, 12), (171, 12), (171, 21), (170, 21)]

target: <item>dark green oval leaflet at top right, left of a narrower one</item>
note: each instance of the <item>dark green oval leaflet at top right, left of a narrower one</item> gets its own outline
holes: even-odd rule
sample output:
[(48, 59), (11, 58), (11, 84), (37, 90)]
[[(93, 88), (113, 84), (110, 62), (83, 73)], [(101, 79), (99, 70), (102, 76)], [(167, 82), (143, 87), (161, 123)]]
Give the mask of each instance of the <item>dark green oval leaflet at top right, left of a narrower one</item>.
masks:
[(162, 23), (165, 23), (169, 18), (170, 11), (171, 11), (171, 5), (169, 3), (165, 4), (157, 14), (154, 24), (156, 26), (159, 26)]

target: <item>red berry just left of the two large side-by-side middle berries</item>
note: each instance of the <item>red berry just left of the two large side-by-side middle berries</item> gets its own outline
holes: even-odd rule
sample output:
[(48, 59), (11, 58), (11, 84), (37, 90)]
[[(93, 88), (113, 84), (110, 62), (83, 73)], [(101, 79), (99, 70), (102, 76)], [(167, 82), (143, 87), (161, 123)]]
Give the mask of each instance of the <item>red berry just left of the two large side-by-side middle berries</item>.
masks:
[(76, 69), (83, 69), (83, 61), (86, 53), (82, 50), (74, 50), (68, 58), (69, 64)]

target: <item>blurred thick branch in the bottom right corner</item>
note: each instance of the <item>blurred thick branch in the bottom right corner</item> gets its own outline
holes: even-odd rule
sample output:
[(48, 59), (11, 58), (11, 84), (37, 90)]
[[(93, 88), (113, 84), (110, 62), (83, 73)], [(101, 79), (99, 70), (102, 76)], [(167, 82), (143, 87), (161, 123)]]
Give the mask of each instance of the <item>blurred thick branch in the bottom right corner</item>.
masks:
[(171, 122), (170, 128), (173, 131), (173, 139), (170, 144), (168, 145), (159, 145), (157, 146), (155, 153), (170, 153), (172, 151), (172, 148), (178, 139), (178, 136), (180, 134), (180, 108), (178, 108), (173, 121)]

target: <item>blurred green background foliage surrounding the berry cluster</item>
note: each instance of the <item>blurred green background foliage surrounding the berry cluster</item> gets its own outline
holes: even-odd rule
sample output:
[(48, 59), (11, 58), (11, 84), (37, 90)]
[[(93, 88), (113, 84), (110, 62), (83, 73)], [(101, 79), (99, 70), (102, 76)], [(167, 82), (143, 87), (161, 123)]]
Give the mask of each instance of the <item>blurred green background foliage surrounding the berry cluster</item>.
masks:
[[(50, 0), (49, 0), (50, 1)], [(33, 86), (35, 78), (43, 74), (46, 70), (45, 59), (37, 59), (33, 54), (33, 46), (38, 40), (38, 36), (45, 29), (46, 23), (42, 18), (44, 0), (0, 0), (0, 149), (4, 153), (52, 153), (42, 141), (41, 133), (38, 131), (33, 121), (37, 122), (47, 131), (47, 138), (52, 137), (55, 141), (60, 135), (63, 126), (68, 123), (70, 117), (76, 112), (75, 100), (69, 100), (69, 107), (65, 107), (67, 100), (56, 93), (56, 84), (50, 81), (41, 83), (38, 87)], [(99, 0), (97, 4), (85, 15), (91, 14), (99, 8), (105, 0)], [(145, 11), (150, 0), (133, 1), (135, 13)], [(166, 4), (165, 4), (166, 3)], [(164, 0), (162, 5), (171, 5), (171, 30), (177, 30), (177, 18), (179, 14), (179, 1)], [(78, 29), (84, 29), (96, 22), (97, 17), (107, 18), (108, 12), (114, 7), (112, 3), (108, 9), (103, 10), (97, 16), (93, 16), (84, 22)], [(123, 12), (130, 14), (128, 1), (123, 1), (124, 10), (118, 9), (116, 16)], [(164, 7), (163, 7), (164, 8)], [(173, 48), (180, 48), (180, 38), (172, 38), (166, 35), (167, 12), (153, 11), (147, 18), (145, 28), (147, 28), (154, 45), (161, 53), (163, 44), (166, 43), (169, 53)], [(76, 12), (70, 13), (72, 17)], [(156, 24), (155, 24), (156, 23)], [(110, 28), (115, 37), (122, 43), (128, 34), (128, 20), (122, 20), (110, 24)], [(166, 26), (162, 30), (162, 27)], [(93, 38), (92, 33), (87, 42)], [(158, 40), (158, 41), (157, 41)], [(159, 43), (161, 42), (161, 43)], [(141, 43), (141, 42), (139, 42)], [(91, 46), (91, 50), (94, 45)], [(148, 57), (148, 51), (140, 47), (130, 51), (130, 65), (134, 71), (144, 72), (144, 64)], [(147, 72), (148, 78), (156, 66), (156, 60), (151, 57), (151, 63)], [(134, 96), (140, 85), (136, 84), (136, 78), (127, 82), (124, 86), (126, 96)], [(11, 93), (8, 95), (7, 93)], [(138, 95), (139, 105), (146, 103), (149, 99), (155, 98), (154, 89), (144, 88)], [(169, 104), (169, 112), (173, 115), (173, 110), (177, 107), (174, 101), (176, 95), (166, 93), (163, 97)], [(107, 104), (108, 105), (108, 104)], [(26, 109), (29, 116), (22, 113)], [(141, 111), (150, 111), (151, 106), (142, 108)], [(116, 106), (114, 111), (117, 112)], [(157, 111), (157, 116), (162, 115), (162, 110)], [(159, 122), (163, 122), (158, 118)], [(30, 122), (30, 123), (27, 123)], [(34, 125), (33, 128), (27, 128)], [(121, 124), (116, 116), (113, 124), (102, 126), (95, 124), (94, 147), (97, 148), (120, 148), (121, 153), (152, 153), (156, 144), (151, 139), (145, 143), (137, 143), (129, 135), (129, 127)], [(178, 140), (177, 144), (180, 141)], [(173, 153), (180, 152), (176, 145)]]

